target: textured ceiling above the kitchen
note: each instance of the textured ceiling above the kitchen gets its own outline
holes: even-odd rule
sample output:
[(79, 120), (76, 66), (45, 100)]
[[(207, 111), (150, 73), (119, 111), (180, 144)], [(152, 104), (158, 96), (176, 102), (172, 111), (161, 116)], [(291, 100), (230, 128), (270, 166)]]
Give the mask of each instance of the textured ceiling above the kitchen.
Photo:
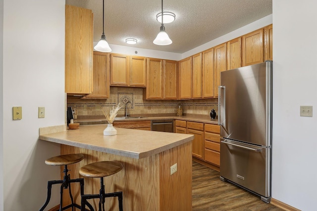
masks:
[[(92, 9), (94, 42), (103, 32), (103, 0), (66, 0), (66, 4)], [(272, 14), (272, 0), (164, 0), (163, 11), (176, 20), (164, 24), (173, 41), (159, 46), (153, 40), (159, 33), (156, 15), (161, 0), (105, 0), (105, 34), (110, 44), (184, 53), (206, 42)], [(137, 44), (125, 43), (135, 38)]]

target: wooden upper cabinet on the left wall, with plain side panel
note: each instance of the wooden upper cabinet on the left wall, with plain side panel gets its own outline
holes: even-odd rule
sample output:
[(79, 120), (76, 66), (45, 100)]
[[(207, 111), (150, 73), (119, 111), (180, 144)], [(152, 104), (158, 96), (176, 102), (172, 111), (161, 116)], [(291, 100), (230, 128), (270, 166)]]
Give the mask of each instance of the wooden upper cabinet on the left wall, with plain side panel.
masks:
[(90, 94), (93, 85), (93, 13), (65, 5), (65, 92)]

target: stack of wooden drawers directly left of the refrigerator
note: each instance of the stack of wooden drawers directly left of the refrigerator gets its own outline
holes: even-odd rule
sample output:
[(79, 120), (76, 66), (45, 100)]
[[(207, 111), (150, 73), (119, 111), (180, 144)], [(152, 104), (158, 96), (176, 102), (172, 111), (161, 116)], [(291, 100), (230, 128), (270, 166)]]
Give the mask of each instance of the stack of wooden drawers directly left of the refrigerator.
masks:
[(205, 124), (205, 161), (220, 167), (220, 126)]

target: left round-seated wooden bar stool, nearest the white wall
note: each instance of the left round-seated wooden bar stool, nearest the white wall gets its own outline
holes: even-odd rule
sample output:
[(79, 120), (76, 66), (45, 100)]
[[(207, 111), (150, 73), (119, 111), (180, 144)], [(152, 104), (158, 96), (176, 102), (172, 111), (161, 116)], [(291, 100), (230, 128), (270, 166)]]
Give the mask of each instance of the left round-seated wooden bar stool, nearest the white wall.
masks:
[[(64, 170), (63, 170), (63, 173), (64, 173), (63, 180), (51, 180), (51, 181), (48, 181), (48, 196), (47, 196), (45, 204), (40, 209), (40, 211), (44, 211), (44, 209), (46, 208), (46, 206), (50, 202), (51, 192), (52, 192), (52, 185), (53, 184), (61, 184), (60, 185), (59, 211), (66, 210), (68, 208), (72, 208), (72, 211), (74, 211), (74, 208), (81, 209), (80, 205), (77, 205), (77, 204), (74, 203), (73, 196), (72, 196), (71, 190), (70, 190), (70, 183), (79, 182), (80, 183), (80, 194), (82, 195), (82, 194), (84, 194), (84, 179), (83, 178), (70, 179), (70, 174), (67, 175), (67, 172), (68, 172), (67, 165), (78, 163), (78, 162), (82, 161), (83, 159), (84, 159), (84, 155), (83, 154), (68, 154), (68, 155), (55, 156), (55, 157), (52, 157), (52, 158), (49, 158), (49, 159), (45, 160), (45, 163), (47, 165), (50, 165), (50, 166), (65, 166), (65, 167), (64, 167)], [(63, 205), (62, 205), (62, 203), (63, 203), (63, 201), (62, 201), (62, 199), (63, 199), (63, 189), (67, 189), (67, 188), (69, 190), (69, 197), (70, 197), (70, 200), (71, 200), (71, 204), (67, 205), (66, 207), (63, 207)], [(90, 204), (87, 204), (87, 206), (90, 209), (93, 209), (93, 207)]]

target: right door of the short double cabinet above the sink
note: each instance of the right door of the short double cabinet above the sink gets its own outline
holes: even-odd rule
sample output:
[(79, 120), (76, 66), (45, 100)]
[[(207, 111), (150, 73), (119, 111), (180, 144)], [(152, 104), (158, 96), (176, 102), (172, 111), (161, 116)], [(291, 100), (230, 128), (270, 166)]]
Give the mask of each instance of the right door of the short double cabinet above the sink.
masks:
[(145, 87), (145, 57), (130, 56), (130, 86)]

